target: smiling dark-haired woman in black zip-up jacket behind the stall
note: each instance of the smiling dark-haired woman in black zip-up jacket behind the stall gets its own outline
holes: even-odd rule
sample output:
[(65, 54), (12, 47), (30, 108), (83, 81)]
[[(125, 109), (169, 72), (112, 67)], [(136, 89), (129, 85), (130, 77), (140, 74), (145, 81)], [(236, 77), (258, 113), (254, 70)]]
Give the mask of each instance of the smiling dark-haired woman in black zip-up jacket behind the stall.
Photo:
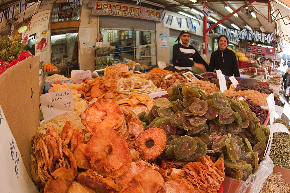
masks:
[(226, 48), (228, 44), (229, 39), (225, 35), (218, 37), (218, 50), (211, 54), (209, 72), (222, 70), (225, 76), (240, 77), (237, 58), (232, 50)]

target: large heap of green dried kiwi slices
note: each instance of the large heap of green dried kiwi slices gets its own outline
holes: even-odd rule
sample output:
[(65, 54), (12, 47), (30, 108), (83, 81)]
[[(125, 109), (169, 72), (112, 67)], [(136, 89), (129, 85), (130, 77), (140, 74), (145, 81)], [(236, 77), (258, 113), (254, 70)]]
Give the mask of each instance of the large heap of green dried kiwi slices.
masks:
[(222, 156), (226, 175), (238, 180), (258, 170), (270, 130), (260, 126), (247, 103), (184, 84), (167, 91), (169, 99), (156, 99), (148, 113), (148, 127), (161, 128), (167, 137), (159, 159), (182, 167), (206, 154)]

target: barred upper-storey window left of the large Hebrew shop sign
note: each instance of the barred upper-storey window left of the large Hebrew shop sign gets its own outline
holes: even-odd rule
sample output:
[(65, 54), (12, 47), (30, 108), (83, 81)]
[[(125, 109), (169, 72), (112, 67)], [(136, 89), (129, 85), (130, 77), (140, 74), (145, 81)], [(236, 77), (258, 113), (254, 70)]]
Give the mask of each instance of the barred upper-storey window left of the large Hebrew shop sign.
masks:
[(58, 23), (63, 21), (77, 21), (79, 20), (80, 6), (74, 8), (72, 3), (54, 3), (51, 22)]

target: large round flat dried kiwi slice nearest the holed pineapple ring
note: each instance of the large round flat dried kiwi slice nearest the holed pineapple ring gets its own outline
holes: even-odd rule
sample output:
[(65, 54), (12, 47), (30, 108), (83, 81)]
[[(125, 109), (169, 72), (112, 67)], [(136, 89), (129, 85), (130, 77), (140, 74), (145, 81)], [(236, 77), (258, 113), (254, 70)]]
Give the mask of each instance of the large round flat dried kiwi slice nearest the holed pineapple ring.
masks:
[(177, 158), (184, 159), (191, 156), (197, 148), (197, 142), (191, 136), (181, 136), (174, 144), (174, 153)]

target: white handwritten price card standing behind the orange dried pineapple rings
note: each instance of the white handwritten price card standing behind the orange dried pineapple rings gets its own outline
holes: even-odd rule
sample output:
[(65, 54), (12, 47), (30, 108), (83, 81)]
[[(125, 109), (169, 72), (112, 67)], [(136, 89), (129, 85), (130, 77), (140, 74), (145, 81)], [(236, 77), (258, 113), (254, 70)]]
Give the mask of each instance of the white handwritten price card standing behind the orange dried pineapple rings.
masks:
[(49, 92), (39, 97), (45, 121), (65, 112), (73, 112), (73, 91)]

